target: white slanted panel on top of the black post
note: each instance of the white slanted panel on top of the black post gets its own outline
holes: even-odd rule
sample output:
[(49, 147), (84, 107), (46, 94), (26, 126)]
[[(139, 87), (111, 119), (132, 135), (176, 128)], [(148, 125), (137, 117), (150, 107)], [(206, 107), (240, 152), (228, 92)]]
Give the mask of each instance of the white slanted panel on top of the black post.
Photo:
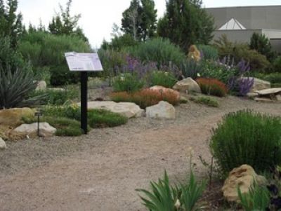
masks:
[(65, 53), (68, 67), (73, 72), (103, 71), (98, 53)]

